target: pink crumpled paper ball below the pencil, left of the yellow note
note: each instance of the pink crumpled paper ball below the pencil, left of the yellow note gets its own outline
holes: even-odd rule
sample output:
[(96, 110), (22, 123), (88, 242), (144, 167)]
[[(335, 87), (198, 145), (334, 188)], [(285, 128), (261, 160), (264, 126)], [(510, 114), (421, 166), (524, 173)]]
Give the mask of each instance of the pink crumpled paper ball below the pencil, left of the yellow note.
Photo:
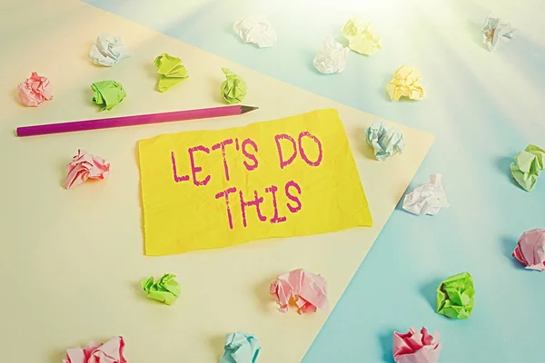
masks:
[(110, 164), (98, 156), (78, 150), (72, 162), (66, 165), (68, 175), (64, 188), (70, 189), (85, 182), (87, 179), (105, 179), (110, 174)]

